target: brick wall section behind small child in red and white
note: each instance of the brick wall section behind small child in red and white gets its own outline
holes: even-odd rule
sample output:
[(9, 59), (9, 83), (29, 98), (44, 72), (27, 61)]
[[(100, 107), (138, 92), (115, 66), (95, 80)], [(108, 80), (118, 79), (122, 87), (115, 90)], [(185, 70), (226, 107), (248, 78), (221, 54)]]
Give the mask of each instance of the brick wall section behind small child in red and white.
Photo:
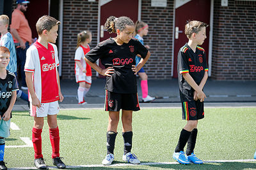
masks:
[[(92, 32), (91, 47), (97, 45), (98, 2), (81, 0), (63, 1), (63, 57), (62, 78), (74, 79), (74, 56), (77, 34), (83, 30)], [(93, 76), (95, 76), (95, 71)]]

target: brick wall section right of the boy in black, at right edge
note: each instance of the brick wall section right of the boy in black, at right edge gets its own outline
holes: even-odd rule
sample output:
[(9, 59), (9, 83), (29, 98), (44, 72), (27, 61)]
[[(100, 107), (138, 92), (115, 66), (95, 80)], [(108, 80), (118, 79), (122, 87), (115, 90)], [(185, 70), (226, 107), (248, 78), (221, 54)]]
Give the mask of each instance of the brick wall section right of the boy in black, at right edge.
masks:
[(212, 78), (256, 80), (256, 2), (214, 1)]

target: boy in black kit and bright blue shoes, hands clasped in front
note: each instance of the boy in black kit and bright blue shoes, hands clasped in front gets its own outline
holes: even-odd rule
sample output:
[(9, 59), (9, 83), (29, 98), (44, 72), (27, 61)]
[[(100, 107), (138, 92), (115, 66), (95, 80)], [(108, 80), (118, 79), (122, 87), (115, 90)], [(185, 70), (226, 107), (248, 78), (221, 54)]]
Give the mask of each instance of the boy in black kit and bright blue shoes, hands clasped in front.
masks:
[[(182, 119), (188, 120), (180, 132), (179, 142), (173, 153), (173, 159), (180, 164), (203, 164), (194, 153), (197, 136), (198, 120), (204, 118), (203, 89), (208, 78), (208, 66), (204, 48), (198, 46), (204, 43), (204, 22), (193, 20), (185, 25), (188, 43), (180, 48), (178, 53), (178, 81), (180, 101), (182, 103)], [(187, 145), (186, 155), (184, 147)]]

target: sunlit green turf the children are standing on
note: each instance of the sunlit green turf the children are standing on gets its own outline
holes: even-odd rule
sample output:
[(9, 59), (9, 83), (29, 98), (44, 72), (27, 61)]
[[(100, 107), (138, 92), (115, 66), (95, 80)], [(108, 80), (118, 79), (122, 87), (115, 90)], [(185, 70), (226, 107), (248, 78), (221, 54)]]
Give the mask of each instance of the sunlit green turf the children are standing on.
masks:
[[(120, 119), (121, 120), (121, 119)], [(20, 131), (11, 129), (6, 145), (24, 145), (20, 137), (32, 136), (33, 118), (26, 112), (14, 112), (12, 122)], [(256, 148), (256, 108), (205, 108), (205, 118), (198, 122), (195, 153), (202, 160), (252, 159)], [(174, 162), (182, 120), (181, 108), (142, 109), (133, 113), (132, 152), (141, 162)], [(58, 115), (60, 153), (68, 166), (101, 164), (106, 155), (108, 112), (102, 110), (61, 110)], [(47, 120), (42, 132), (42, 151), (52, 166), (51, 143)], [(118, 125), (115, 162), (123, 163), (122, 123)], [(6, 148), (4, 161), (10, 167), (33, 167), (33, 148)], [(86, 169), (102, 169), (93, 167)], [(255, 162), (124, 166), (118, 169), (256, 169)], [(81, 169), (81, 168), (79, 168)], [(84, 169), (84, 168), (83, 168)], [(106, 167), (104, 169), (116, 169)]]

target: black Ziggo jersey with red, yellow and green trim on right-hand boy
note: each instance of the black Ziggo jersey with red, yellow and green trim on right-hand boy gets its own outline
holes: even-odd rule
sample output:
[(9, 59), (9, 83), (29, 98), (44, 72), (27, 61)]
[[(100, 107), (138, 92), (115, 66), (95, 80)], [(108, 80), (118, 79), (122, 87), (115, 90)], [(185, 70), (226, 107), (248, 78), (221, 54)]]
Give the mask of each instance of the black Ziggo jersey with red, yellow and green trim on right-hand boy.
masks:
[(184, 79), (182, 73), (189, 73), (197, 85), (200, 85), (208, 66), (204, 48), (196, 46), (196, 52), (186, 45), (180, 48), (178, 53), (178, 80), (180, 89), (180, 101), (193, 101), (194, 89)]

